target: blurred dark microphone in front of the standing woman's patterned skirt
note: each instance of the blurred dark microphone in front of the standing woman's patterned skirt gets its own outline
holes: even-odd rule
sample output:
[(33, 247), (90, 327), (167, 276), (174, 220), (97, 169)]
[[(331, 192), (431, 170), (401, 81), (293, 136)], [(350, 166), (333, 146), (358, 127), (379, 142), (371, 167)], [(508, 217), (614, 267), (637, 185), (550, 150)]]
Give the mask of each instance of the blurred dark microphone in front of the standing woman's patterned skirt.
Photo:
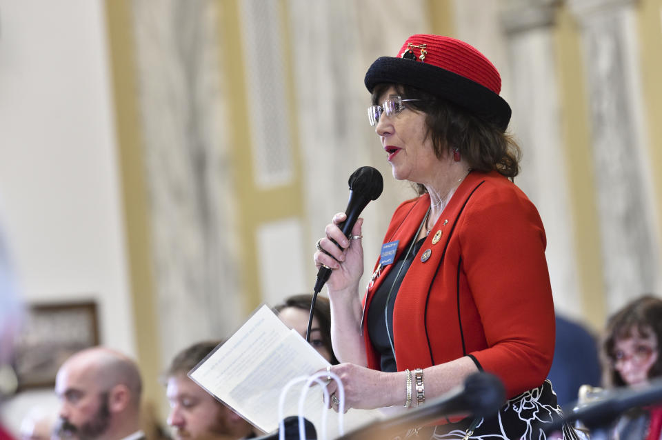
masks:
[(465, 379), (463, 385), (425, 402), (421, 408), (377, 421), (338, 440), (388, 439), (412, 426), (427, 425), (450, 416), (491, 417), (504, 402), (505, 389), (498, 377), (487, 372), (474, 373)]

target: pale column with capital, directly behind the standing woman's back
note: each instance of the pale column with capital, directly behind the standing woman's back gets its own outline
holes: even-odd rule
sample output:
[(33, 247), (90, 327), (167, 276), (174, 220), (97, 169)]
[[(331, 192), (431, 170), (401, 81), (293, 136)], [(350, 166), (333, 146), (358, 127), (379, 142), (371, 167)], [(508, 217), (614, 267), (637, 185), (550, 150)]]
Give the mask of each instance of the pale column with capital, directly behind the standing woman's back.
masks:
[(581, 317), (573, 223), (566, 179), (559, 81), (552, 26), (556, 0), (504, 2), (510, 76), (510, 129), (522, 149), (515, 183), (538, 208), (547, 233), (547, 259), (557, 310)]

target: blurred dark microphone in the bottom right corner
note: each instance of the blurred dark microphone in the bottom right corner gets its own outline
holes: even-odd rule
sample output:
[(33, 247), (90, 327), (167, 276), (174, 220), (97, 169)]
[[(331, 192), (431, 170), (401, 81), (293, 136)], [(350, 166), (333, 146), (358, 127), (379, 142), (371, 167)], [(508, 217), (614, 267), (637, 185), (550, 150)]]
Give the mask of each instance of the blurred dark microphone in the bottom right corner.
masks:
[(651, 381), (643, 388), (621, 388), (605, 391), (601, 398), (590, 403), (572, 403), (563, 408), (563, 416), (555, 417), (544, 426), (546, 432), (558, 430), (563, 423), (581, 421), (587, 428), (609, 426), (616, 417), (631, 408), (662, 402), (662, 379)]

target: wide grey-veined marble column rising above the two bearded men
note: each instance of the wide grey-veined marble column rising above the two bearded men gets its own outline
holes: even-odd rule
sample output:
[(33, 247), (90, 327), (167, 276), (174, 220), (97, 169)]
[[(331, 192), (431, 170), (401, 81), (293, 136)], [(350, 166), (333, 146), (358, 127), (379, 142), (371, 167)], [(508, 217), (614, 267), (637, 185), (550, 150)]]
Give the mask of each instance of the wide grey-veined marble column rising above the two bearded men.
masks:
[(241, 322), (234, 193), (209, 0), (131, 3), (161, 361)]

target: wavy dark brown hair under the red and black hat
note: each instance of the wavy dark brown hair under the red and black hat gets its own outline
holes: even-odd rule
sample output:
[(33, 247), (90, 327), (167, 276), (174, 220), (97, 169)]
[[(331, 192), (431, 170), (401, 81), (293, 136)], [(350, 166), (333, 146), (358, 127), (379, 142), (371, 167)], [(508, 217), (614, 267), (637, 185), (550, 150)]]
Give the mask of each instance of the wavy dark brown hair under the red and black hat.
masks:
[[(408, 108), (426, 114), (427, 136), (432, 139), (434, 154), (439, 159), (457, 148), (474, 171), (498, 171), (511, 180), (519, 173), (521, 150), (512, 136), (494, 123), (472, 114), (456, 104), (404, 84), (381, 83), (372, 91), (372, 104), (378, 101), (388, 88), (393, 87), (402, 99), (420, 99), (406, 104)], [(416, 183), (419, 194), (425, 188)]]

